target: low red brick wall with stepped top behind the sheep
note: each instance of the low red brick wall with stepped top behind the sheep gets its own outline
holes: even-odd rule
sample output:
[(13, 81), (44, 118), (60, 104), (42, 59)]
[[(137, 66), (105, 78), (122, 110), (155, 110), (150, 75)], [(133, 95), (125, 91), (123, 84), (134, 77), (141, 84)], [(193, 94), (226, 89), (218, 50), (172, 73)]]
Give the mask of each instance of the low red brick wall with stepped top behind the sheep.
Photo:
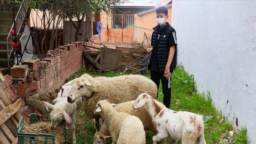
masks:
[(54, 51), (54, 55), (48, 55), (41, 61), (41, 66), (44, 80), (43, 91), (50, 92), (55, 97), (55, 90), (59, 89), (71, 74), (74, 74), (84, 65), (83, 42), (60, 46)]

